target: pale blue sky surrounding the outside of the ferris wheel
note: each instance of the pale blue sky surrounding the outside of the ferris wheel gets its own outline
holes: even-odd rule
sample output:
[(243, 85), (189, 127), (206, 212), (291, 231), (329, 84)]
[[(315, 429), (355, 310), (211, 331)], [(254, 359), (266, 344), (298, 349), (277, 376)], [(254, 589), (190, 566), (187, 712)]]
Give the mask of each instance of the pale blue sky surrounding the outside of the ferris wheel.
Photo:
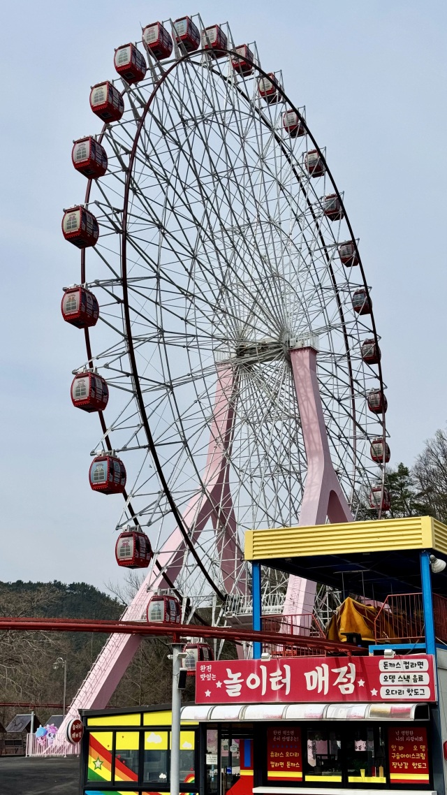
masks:
[(82, 332), (61, 288), (79, 279), (62, 208), (83, 200), (73, 138), (99, 130), (90, 86), (142, 25), (199, 12), (257, 41), (327, 147), (382, 335), (391, 463), (411, 465), (447, 420), (445, 103), (447, 6), (415, 0), (5, 2), (0, 224), (0, 580), (119, 580), (119, 496), (87, 480), (98, 419), (73, 409)]

